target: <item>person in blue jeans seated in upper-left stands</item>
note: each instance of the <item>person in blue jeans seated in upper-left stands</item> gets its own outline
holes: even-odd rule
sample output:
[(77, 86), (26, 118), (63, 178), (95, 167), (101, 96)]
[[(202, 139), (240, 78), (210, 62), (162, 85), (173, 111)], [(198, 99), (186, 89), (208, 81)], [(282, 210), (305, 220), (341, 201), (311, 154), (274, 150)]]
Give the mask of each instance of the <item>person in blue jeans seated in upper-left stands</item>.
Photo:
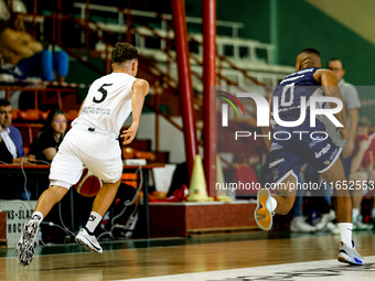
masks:
[(39, 76), (53, 80), (56, 71), (58, 82), (64, 82), (68, 71), (68, 57), (64, 51), (51, 53), (40, 42), (24, 32), (22, 14), (13, 13), (8, 28), (0, 31), (0, 50), (6, 65), (17, 66), (20, 78)]

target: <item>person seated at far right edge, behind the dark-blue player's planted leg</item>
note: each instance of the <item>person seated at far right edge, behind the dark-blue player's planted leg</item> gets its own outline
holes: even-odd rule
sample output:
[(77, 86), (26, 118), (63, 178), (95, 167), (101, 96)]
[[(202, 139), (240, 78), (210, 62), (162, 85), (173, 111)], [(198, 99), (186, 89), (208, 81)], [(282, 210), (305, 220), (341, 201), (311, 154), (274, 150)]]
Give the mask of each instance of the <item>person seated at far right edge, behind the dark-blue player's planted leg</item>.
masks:
[[(361, 215), (361, 204), (364, 193), (367, 190), (367, 183), (375, 181), (374, 170), (374, 154), (375, 154), (375, 134), (368, 136), (371, 121), (367, 117), (362, 117), (358, 122), (356, 143), (354, 149), (354, 158), (352, 162), (350, 181), (353, 183), (360, 183), (363, 188), (352, 190), (353, 202), (353, 230), (372, 229), (373, 226), (364, 224)], [(372, 217), (375, 217), (375, 210), (373, 207)]]

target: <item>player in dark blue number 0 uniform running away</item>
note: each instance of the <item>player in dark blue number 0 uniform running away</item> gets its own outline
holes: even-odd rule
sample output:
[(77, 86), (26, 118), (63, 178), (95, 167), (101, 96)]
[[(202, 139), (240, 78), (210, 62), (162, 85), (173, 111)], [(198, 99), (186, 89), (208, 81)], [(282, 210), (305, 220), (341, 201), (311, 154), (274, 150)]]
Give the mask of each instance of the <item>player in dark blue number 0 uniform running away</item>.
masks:
[[(258, 192), (255, 218), (260, 228), (268, 230), (274, 214), (289, 213), (297, 188), (301, 187), (298, 185), (300, 169), (309, 161), (335, 194), (335, 212), (341, 233), (339, 261), (365, 264), (352, 241), (352, 201), (339, 158), (341, 148), (325, 133), (321, 116), (313, 109), (323, 108), (323, 99), (328, 99), (321, 98), (323, 96), (335, 98), (329, 100), (333, 110), (340, 100), (343, 105), (335, 75), (320, 67), (320, 53), (314, 48), (302, 50), (297, 56), (297, 72), (280, 82), (269, 100), (274, 128), (262, 128), (262, 133), (270, 136), (269, 139), (265, 138), (271, 177), (268, 186), (275, 190), (275, 194), (271, 196), (269, 188)], [(338, 127), (338, 132), (341, 139), (345, 139), (345, 110), (339, 109), (331, 115), (331, 120), (335, 118), (342, 125)]]

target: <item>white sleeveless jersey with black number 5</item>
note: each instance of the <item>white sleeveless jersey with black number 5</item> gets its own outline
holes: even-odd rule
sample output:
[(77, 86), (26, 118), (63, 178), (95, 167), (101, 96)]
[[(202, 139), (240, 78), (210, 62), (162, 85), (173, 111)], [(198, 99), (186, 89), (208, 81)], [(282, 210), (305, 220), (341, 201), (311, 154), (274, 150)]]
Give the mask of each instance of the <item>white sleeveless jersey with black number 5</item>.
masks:
[(96, 79), (72, 127), (93, 128), (117, 138), (131, 112), (131, 88), (136, 79), (126, 73), (111, 73)]

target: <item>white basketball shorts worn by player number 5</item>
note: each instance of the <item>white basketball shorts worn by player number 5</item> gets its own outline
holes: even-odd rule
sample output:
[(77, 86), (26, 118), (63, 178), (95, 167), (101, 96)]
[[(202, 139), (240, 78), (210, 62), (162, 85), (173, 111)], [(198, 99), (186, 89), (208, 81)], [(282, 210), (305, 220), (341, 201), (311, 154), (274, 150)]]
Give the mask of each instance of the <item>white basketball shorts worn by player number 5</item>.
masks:
[(108, 134), (73, 127), (51, 163), (51, 185), (71, 188), (86, 166), (104, 183), (116, 183), (122, 174), (119, 141)]

